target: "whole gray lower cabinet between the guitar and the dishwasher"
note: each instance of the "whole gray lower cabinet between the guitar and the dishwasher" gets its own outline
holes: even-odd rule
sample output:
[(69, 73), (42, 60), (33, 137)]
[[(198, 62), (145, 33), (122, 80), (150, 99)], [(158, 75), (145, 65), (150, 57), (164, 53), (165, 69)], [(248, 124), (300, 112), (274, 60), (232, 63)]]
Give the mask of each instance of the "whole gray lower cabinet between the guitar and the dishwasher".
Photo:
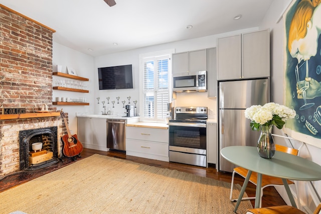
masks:
[(107, 151), (106, 119), (77, 117), (77, 137), (85, 148)]

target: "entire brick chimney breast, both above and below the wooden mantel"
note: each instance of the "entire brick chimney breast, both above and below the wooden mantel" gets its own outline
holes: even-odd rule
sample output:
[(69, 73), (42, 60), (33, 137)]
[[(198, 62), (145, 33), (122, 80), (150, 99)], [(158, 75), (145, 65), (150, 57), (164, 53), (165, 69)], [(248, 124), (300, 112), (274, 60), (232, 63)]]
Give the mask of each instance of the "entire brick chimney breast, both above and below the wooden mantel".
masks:
[[(2, 108), (25, 108), (26, 113), (52, 105), (52, 36), (55, 31), (0, 5), (0, 114)], [(56, 126), (66, 131), (59, 116), (0, 119), (0, 179), (20, 170), (19, 132)], [(61, 155), (60, 140), (57, 142)]]

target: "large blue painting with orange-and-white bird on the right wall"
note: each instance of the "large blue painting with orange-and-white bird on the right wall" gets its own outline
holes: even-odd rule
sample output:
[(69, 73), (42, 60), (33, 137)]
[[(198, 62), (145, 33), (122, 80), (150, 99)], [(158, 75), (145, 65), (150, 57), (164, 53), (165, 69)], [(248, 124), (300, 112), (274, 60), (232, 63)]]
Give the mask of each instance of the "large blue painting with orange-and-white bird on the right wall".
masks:
[(321, 0), (293, 0), (284, 20), (285, 133), (321, 148)]

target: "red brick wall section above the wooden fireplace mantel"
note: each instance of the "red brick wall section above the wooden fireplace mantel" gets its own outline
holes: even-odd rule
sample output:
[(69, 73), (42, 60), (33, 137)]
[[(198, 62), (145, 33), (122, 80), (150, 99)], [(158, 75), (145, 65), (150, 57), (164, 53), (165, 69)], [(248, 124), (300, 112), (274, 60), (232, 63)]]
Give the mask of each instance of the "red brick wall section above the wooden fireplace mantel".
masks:
[(0, 7), (0, 108), (52, 108), (52, 35)]

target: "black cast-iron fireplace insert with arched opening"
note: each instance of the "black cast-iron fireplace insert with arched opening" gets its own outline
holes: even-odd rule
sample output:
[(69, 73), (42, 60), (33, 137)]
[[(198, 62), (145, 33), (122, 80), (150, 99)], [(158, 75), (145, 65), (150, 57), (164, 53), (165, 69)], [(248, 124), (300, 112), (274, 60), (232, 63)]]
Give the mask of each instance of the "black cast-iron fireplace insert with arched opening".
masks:
[[(57, 126), (19, 131), (20, 170), (36, 170), (59, 161)], [(34, 151), (33, 143), (41, 142), (41, 150)]]

